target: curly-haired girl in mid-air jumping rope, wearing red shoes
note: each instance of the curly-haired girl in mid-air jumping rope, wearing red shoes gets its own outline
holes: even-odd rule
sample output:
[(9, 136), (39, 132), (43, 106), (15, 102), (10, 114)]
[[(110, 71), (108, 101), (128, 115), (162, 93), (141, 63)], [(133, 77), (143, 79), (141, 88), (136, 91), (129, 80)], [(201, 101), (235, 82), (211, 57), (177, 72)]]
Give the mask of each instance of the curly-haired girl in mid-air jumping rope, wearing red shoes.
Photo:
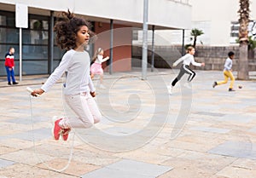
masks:
[(61, 49), (66, 49), (61, 63), (49, 76), (41, 89), (35, 89), (33, 96), (42, 95), (56, 83), (64, 72), (67, 72), (67, 81), (64, 88), (64, 98), (67, 105), (76, 113), (77, 118), (58, 118), (55, 120), (54, 137), (59, 140), (60, 135), (67, 141), (68, 133), (72, 128), (90, 128), (98, 123), (102, 114), (96, 101), (96, 89), (90, 78), (90, 55), (84, 50), (89, 43), (89, 24), (77, 18), (69, 10), (61, 13), (54, 28), (56, 42)]

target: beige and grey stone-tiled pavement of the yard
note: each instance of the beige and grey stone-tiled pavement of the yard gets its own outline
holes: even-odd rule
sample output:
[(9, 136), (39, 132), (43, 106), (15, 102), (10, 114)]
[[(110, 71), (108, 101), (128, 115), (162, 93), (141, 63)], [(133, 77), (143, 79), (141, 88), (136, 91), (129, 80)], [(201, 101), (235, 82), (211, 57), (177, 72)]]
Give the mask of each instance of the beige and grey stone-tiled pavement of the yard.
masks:
[(73, 129), (68, 141), (51, 135), (53, 116), (73, 115), (62, 80), (32, 98), (26, 86), (36, 89), (47, 76), (17, 86), (0, 78), (0, 178), (256, 177), (256, 81), (236, 81), (228, 92), (228, 84), (212, 89), (222, 72), (196, 73), (192, 89), (184, 76), (168, 95), (177, 70), (148, 72), (147, 80), (138, 69), (106, 72), (106, 89), (94, 80), (102, 122)]

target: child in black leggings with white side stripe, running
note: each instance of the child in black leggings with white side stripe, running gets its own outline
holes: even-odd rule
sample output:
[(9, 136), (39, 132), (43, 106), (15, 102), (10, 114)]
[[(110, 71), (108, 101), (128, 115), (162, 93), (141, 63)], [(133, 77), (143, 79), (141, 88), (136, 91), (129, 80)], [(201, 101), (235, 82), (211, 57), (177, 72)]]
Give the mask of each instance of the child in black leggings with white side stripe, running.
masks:
[[(191, 82), (193, 80), (193, 78), (195, 78), (195, 72), (192, 71), (191, 69), (189, 69), (190, 63), (193, 66), (205, 66), (205, 63), (195, 62), (194, 55), (195, 55), (195, 48), (192, 46), (189, 46), (189, 48), (187, 49), (187, 55), (184, 55), (183, 57), (181, 57), (180, 59), (176, 60), (173, 63), (173, 66), (177, 66), (181, 61), (183, 61), (183, 65), (180, 68), (177, 78), (175, 78), (172, 81), (172, 86), (171, 86), (171, 89), (169, 90), (170, 95), (172, 95), (172, 88), (175, 86), (177, 81), (179, 81), (183, 77), (183, 75), (185, 73), (189, 74), (188, 82)], [(186, 84), (188, 85), (188, 83), (186, 83)], [(188, 87), (189, 87), (189, 85), (188, 85)]]

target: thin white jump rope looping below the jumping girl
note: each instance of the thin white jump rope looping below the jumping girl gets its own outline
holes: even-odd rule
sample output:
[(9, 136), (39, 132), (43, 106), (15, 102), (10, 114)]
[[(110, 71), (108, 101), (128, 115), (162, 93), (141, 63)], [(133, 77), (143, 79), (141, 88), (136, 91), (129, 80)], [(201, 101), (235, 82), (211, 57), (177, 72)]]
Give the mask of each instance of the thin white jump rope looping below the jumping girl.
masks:
[[(33, 96), (31, 95), (33, 90), (31, 88), (29, 88), (29, 87), (27, 87), (26, 90), (29, 92), (30, 111), (31, 111), (31, 120), (32, 120), (32, 142), (33, 142), (34, 154), (37, 156), (39, 161), (42, 164), (44, 164), (44, 166), (46, 168), (54, 170), (56, 172), (63, 172), (64, 170), (66, 170), (68, 168), (68, 166), (70, 165), (71, 160), (73, 158), (73, 147), (74, 147), (74, 135), (75, 134), (73, 132), (73, 139), (72, 139), (73, 141), (72, 141), (71, 150), (70, 150), (70, 153), (69, 153), (69, 158), (68, 158), (67, 164), (62, 169), (55, 169), (55, 168), (49, 166), (49, 164), (44, 163), (44, 160), (41, 159), (40, 157), (38, 157), (38, 153), (37, 153), (37, 150), (36, 150), (36, 141), (35, 141), (35, 135), (34, 135), (34, 118), (33, 118), (33, 109), (32, 109), (32, 97)], [(37, 95), (37, 96), (40, 97), (40, 95)], [(64, 106), (63, 101), (62, 101), (62, 106)]]

